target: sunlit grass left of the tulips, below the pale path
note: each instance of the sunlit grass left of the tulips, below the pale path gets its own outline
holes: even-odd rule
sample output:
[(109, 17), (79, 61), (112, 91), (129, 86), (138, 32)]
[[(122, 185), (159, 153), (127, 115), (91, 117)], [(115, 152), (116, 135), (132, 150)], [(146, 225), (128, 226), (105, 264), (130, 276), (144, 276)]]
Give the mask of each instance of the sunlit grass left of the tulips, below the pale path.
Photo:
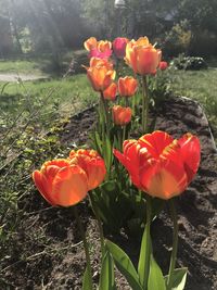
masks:
[(4, 114), (8, 112), (13, 117), (25, 109), (28, 114), (39, 111), (37, 115), (40, 117), (37, 121), (47, 128), (56, 116), (67, 118), (98, 100), (84, 74), (20, 84), (0, 83), (1, 90), (0, 111)]

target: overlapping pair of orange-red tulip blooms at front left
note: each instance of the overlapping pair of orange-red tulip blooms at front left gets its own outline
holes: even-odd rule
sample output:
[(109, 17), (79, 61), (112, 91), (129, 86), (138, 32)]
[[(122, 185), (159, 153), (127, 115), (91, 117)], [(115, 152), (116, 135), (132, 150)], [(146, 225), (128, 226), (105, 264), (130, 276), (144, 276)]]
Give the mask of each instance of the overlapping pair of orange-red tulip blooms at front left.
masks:
[(104, 161), (95, 151), (78, 150), (74, 157), (72, 155), (71, 159), (48, 161), (40, 171), (33, 173), (36, 187), (51, 205), (75, 205), (104, 179)]

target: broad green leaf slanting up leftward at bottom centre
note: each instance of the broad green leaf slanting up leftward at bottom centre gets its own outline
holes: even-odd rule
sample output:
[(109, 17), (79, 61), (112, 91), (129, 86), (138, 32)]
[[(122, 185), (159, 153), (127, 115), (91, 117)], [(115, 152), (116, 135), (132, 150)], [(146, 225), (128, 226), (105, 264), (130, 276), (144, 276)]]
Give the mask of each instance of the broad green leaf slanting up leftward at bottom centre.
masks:
[(142, 287), (139, 282), (139, 276), (129, 256), (118, 245), (108, 240), (105, 242), (105, 247), (108, 249), (115, 261), (116, 267), (123, 274), (123, 276), (125, 276), (129, 286), (133, 290), (142, 290)]

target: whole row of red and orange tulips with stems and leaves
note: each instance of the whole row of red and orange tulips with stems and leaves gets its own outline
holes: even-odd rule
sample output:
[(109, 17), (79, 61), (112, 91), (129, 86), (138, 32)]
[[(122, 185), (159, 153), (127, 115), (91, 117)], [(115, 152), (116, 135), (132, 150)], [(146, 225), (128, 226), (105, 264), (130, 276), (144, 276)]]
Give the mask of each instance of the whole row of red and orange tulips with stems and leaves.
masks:
[[(100, 129), (94, 138), (95, 150), (73, 150), (67, 159), (46, 162), (40, 171), (34, 172), (34, 181), (43, 198), (52, 205), (75, 205), (89, 192), (101, 235), (102, 265), (99, 289), (114, 289), (114, 263), (133, 290), (171, 290), (176, 287), (179, 287), (176, 289), (183, 289), (187, 269), (175, 268), (178, 227), (174, 197), (186, 190), (197, 172), (201, 154), (200, 141), (196, 136), (189, 133), (179, 140), (159, 130), (148, 134), (148, 76), (154, 77), (157, 70), (166, 70), (167, 63), (161, 61), (162, 51), (152, 46), (146, 37), (141, 37), (137, 41), (119, 37), (113, 43), (107, 40), (98, 41), (91, 37), (85, 42), (85, 48), (89, 51), (90, 58), (89, 67), (85, 67), (87, 76), (92, 88), (100, 93)], [(116, 61), (125, 59), (126, 64), (132, 68), (135, 77), (119, 77), (117, 84), (115, 83), (116, 72), (114, 61), (111, 60), (113, 52)], [(129, 106), (129, 98), (135, 96), (139, 89), (137, 75), (142, 76), (141, 127), (144, 135), (135, 140), (127, 139), (126, 125), (131, 122), (133, 111)], [(116, 98), (117, 93), (122, 97), (120, 101)], [(119, 103), (111, 105), (108, 102)], [(123, 102), (125, 106), (120, 105)], [(114, 125), (111, 125), (112, 123)], [(119, 135), (117, 138), (112, 137), (113, 126), (123, 128), (122, 138)], [(123, 153), (120, 143), (123, 143)], [(112, 153), (128, 172), (131, 186), (133, 185), (139, 190), (146, 207), (138, 270), (120, 248), (104, 240), (98, 204), (92, 199), (92, 190), (99, 186), (101, 188), (103, 180), (110, 179), (112, 171), (112, 181), (118, 182), (118, 176), (115, 177), (117, 167), (114, 166)], [(174, 220), (174, 244), (166, 276), (163, 276), (156, 264), (151, 247), (152, 204), (156, 198), (168, 200)], [(76, 217), (80, 231), (84, 232), (77, 214)], [(85, 235), (82, 238), (87, 257), (82, 289), (92, 290), (88, 243)]]

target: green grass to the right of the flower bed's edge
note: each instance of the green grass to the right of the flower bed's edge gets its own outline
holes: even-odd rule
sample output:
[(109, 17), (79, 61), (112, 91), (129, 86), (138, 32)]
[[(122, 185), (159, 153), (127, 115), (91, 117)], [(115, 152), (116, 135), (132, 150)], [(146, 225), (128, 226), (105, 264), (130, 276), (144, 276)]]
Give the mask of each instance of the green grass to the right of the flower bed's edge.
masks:
[(204, 71), (176, 71), (171, 89), (175, 94), (189, 97), (197, 100), (204, 108), (205, 113), (217, 137), (217, 70)]

